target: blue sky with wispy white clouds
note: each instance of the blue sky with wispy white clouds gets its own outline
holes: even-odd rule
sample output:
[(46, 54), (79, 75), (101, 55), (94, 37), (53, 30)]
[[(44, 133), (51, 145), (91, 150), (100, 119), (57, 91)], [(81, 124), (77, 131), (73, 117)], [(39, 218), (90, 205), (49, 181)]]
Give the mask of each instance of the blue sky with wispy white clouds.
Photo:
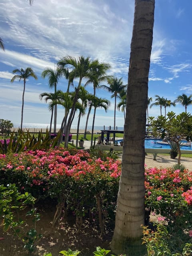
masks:
[[(190, 0), (156, 0), (148, 83), (152, 103), (155, 95), (173, 102), (179, 95), (192, 94), (191, 10)], [(32, 6), (27, 0), (1, 0), (0, 37), (5, 52), (0, 50), (0, 118), (20, 122), (23, 82), (10, 82), (17, 68), (31, 67), (38, 77), (26, 82), (25, 123), (49, 124), (51, 113), (39, 94), (54, 91), (41, 73), (47, 67), (54, 69), (66, 55), (108, 62), (108, 74), (127, 84), (133, 18), (134, 0), (34, 0)], [(61, 78), (57, 88), (66, 91), (67, 80)], [(92, 85), (86, 90), (93, 93)], [(107, 113), (96, 110), (95, 126), (113, 126), (114, 98), (102, 89), (96, 96), (109, 99), (111, 106)], [(192, 113), (192, 105), (187, 110)], [(184, 107), (177, 104), (166, 111), (179, 114)], [(149, 116), (158, 115), (158, 106), (149, 108)], [(63, 116), (64, 109), (59, 107), (58, 124)], [(88, 125), (92, 125), (92, 114)], [(123, 113), (116, 111), (116, 126), (123, 125)]]

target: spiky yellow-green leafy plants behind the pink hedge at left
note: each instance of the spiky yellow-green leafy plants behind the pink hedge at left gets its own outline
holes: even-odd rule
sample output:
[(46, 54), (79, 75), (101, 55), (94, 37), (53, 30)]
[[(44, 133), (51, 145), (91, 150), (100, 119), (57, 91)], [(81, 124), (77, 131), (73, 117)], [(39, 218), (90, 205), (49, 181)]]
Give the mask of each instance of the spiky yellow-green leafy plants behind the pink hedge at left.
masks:
[(58, 143), (59, 136), (60, 134), (58, 133), (54, 139), (50, 139), (48, 130), (46, 130), (45, 136), (40, 131), (38, 137), (35, 137), (29, 131), (25, 133), (22, 130), (18, 130), (18, 133), (12, 132), (10, 139), (0, 140), (0, 154), (54, 148)]

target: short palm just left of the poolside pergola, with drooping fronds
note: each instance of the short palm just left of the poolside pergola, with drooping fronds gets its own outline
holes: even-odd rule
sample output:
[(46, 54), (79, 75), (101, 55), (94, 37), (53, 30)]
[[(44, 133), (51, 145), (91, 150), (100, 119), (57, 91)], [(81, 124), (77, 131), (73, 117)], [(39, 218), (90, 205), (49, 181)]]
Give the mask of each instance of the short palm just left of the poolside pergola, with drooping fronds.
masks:
[(104, 108), (105, 112), (107, 112), (108, 107), (110, 106), (110, 101), (104, 98), (98, 98), (96, 96), (92, 96), (91, 105), (94, 108), (93, 113), (93, 122), (92, 122), (92, 132), (91, 132), (91, 147), (93, 146), (93, 132), (94, 132), (94, 123), (95, 123), (95, 114), (97, 108)]

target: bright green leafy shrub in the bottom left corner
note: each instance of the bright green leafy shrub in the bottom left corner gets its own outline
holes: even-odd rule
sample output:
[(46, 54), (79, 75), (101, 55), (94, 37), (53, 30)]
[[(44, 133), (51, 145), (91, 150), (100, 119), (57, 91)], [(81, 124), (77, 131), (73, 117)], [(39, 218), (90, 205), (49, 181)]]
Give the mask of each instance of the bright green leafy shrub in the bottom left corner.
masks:
[(34, 251), (36, 242), (42, 237), (36, 232), (36, 221), (40, 220), (40, 215), (34, 207), (26, 213), (26, 216), (32, 216), (34, 223), (34, 228), (26, 232), (25, 222), (21, 220), (19, 213), (28, 205), (34, 206), (35, 200), (28, 192), (21, 194), (15, 184), (8, 184), (7, 187), (0, 185), (0, 216), (3, 218), (3, 230), (7, 232), (11, 229), (24, 243), (24, 248), (28, 252)]

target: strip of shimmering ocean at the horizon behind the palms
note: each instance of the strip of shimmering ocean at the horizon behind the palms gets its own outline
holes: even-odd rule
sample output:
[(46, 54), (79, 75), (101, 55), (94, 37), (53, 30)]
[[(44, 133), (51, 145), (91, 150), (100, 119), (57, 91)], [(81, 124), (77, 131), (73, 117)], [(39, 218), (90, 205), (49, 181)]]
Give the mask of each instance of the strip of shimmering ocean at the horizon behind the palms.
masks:
[[(14, 128), (19, 128), (21, 126), (20, 123), (13, 123)], [(39, 128), (39, 129), (43, 129), (43, 128), (48, 128), (49, 129), (50, 124), (36, 124), (36, 123), (23, 123), (23, 128)], [(57, 129), (61, 128), (60, 124), (57, 124), (56, 126)], [(84, 130), (85, 126), (80, 126), (80, 129)], [(53, 125), (52, 125), (52, 129), (53, 129)], [(77, 129), (76, 125), (72, 125), (71, 129)], [(105, 126), (105, 130), (109, 130), (109, 126)], [(113, 129), (113, 126), (111, 126), (111, 130)], [(123, 131), (123, 127), (117, 127), (116, 130), (121, 130)], [(88, 126), (87, 130), (92, 130), (92, 126)], [(94, 126), (94, 130), (104, 130), (104, 126)]]

